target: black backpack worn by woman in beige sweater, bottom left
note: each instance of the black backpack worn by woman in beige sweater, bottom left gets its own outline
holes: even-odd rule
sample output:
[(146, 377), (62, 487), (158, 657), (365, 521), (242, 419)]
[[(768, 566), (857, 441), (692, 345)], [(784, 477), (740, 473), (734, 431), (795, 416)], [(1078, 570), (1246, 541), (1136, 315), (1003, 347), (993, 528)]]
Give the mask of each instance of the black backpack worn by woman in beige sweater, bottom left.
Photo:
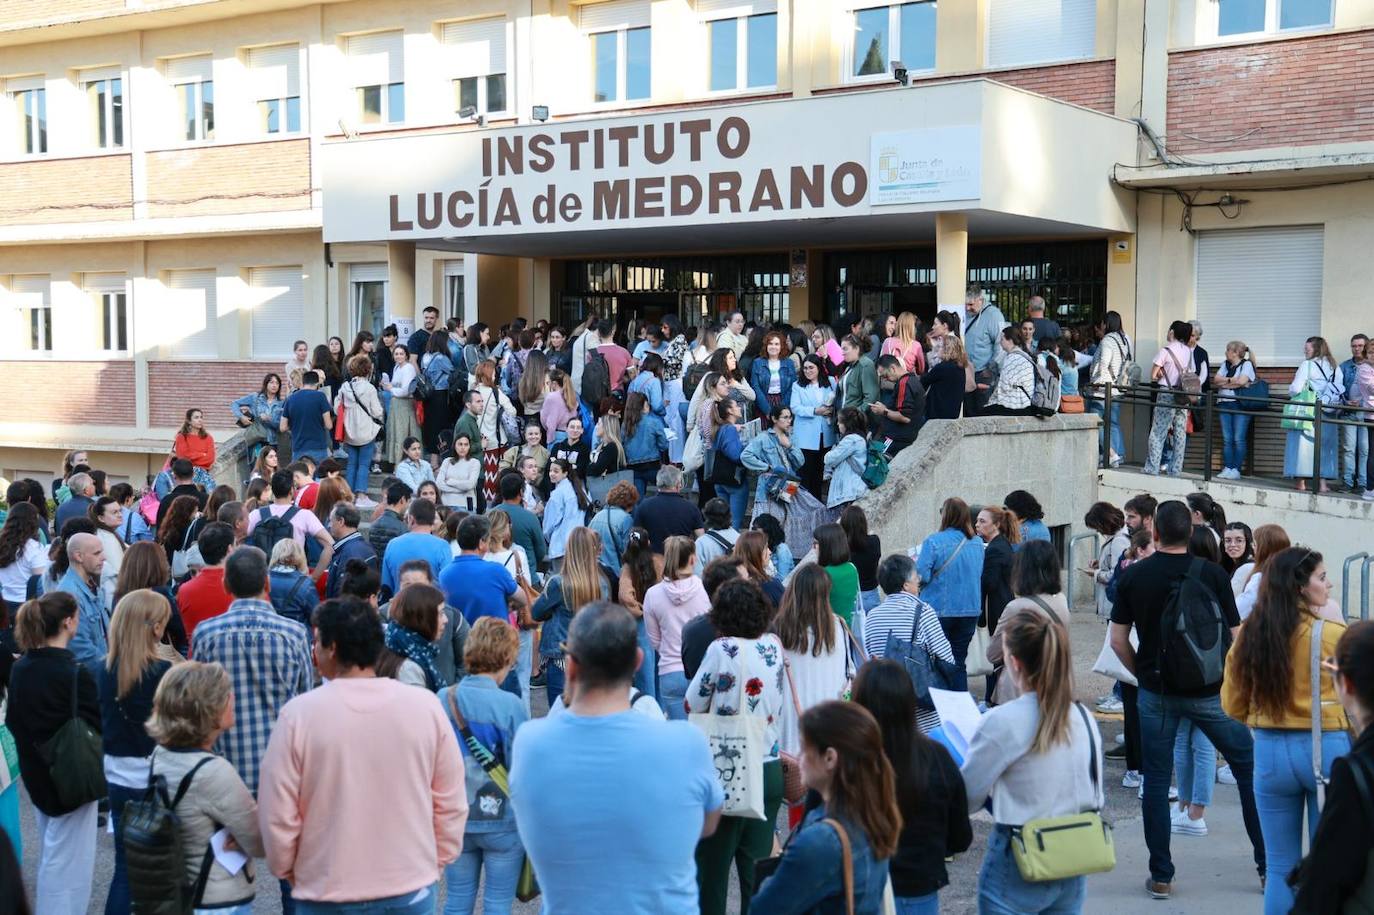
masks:
[[(148, 787), (142, 800), (124, 805), (120, 833), (124, 860), (129, 871), (131, 910), (135, 915), (187, 915), (201, 903), (210, 878), (214, 849), (205, 844), (201, 872), (194, 882), (185, 879), (185, 853), (181, 848), (180, 819), (176, 805), (185, 797), (191, 779), (201, 767), (214, 760), (207, 756), (181, 776), (176, 794), (168, 798), (166, 779), (148, 767)], [(220, 824), (216, 823), (216, 827)]]

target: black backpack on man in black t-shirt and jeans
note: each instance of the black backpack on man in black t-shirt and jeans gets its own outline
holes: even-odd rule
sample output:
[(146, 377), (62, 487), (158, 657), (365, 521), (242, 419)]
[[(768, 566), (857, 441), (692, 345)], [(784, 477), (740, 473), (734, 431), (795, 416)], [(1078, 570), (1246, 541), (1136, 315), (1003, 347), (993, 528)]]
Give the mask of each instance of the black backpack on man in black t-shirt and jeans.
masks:
[(1216, 686), (1226, 670), (1231, 626), (1221, 605), (1202, 581), (1202, 559), (1169, 589), (1160, 617), (1160, 680), (1168, 692), (1190, 692)]

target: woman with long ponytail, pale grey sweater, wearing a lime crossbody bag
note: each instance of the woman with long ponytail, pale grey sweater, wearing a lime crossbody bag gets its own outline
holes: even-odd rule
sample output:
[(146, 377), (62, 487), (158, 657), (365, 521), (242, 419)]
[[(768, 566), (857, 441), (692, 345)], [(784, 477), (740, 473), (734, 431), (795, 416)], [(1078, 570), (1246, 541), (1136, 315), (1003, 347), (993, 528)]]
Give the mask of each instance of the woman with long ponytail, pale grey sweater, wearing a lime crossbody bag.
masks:
[(1003, 618), (1004, 677), (1021, 691), (982, 716), (963, 761), (969, 812), (992, 798), (993, 828), (978, 874), (981, 911), (1080, 912), (1087, 877), (1030, 883), (1011, 864), (1022, 824), (1101, 809), (1102, 739), (1073, 701), (1073, 659), (1063, 626), (1033, 610)]

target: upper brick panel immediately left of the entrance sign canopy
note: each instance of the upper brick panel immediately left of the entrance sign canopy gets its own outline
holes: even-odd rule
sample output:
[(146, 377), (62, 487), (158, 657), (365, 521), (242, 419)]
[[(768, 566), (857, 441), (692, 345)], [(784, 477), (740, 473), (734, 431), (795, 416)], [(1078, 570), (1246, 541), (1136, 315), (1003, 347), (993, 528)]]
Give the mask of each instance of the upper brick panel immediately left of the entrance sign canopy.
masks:
[(309, 140), (148, 152), (148, 216), (265, 213), (309, 206)]

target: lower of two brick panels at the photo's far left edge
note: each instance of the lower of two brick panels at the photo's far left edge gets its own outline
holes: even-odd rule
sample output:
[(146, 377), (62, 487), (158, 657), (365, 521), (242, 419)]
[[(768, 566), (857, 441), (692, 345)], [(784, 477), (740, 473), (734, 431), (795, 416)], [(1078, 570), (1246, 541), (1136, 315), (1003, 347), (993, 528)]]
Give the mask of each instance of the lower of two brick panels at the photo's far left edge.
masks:
[[(133, 426), (133, 363), (0, 363), (0, 420)], [(16, 396), (22, 396), (22, 400)]]

